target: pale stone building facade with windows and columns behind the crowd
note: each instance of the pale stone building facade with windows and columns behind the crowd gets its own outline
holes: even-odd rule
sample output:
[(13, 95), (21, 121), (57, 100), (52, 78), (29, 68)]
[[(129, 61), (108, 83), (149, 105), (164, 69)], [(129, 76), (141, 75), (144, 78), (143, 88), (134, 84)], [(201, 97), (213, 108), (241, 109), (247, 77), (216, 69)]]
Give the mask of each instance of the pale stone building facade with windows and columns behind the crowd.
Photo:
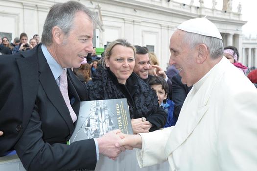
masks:
[[(29, 38), (34, 34), (41, 35), (50, 6), (63, 1), (0, 0), (0, 34), (11, 35), (11, 39), (21, 32), (26, 32)], [(215, 0), (212, 8), (204, 6), (205, 0), (201, 0), (199, 6), (173, 0), (78, 1), (98, 15), (96, 47), (104, 47), (117, 38), (126, 38), (134, 45), (147, 46), (154, 51), (165, 69), (170, 56), (169, 39), (176, 27), (188, 19), (207, 16), (220, 30), (224, 46), (237, 47), (243, 64), (257, 66), (257, 43), (254, 40), (244, 41), (242, 26), (246, 21), (242, 21), (240, 11), (218, 10)]]

